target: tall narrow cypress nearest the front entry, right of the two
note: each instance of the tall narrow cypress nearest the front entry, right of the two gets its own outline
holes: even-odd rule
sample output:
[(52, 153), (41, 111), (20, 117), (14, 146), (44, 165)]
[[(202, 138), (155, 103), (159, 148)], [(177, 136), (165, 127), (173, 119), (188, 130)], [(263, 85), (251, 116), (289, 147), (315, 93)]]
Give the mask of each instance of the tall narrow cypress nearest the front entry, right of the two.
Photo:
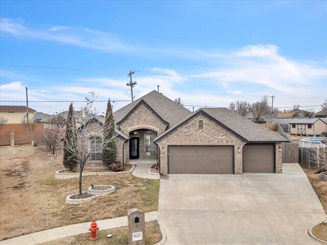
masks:
[[(116, 142), (114, 141), (114, 119), (112, 115), (112, 107), (110, 104), (110, 99), (107, 104), (106, 111), (106, 120), (104, 122), (104, 141), (108, 141), (102, 150), (102, 162), (105, 166), (110, 166), (113, 163), (116, 163), (117, 150), (116, 150)], [(110, 140), (112, 139), (112, 140)]]

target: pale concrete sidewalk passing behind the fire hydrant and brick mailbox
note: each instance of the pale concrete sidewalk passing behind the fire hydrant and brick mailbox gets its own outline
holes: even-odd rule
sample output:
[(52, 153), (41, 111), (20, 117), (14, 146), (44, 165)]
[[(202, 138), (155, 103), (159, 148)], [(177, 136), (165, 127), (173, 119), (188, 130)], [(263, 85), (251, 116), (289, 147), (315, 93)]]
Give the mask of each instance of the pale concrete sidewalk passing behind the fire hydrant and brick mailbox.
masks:
[[(145, 221), (153, 221), (157, 219), (157, 211), (145, 213)], [(62, 237), (74, 236), (82, 233), (88, 233), (90, 222), (80, 223), (69, 226), (62, 226), (50, 230), (39, 231), (24, 236), (0, 241), (1, 245), (33, 245), (45, 241), (52, 241)], [(127, 226), (127, 216), (97, 220), (98, 227), (101, 230), (112, 229), (116, 227)]]

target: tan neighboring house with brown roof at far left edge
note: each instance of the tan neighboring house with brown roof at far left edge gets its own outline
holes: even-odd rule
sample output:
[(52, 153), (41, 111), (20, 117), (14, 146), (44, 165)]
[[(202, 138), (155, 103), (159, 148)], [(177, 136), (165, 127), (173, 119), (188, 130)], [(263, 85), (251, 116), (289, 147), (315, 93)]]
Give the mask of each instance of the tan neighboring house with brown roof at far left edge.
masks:
[[(34, 112), (29, 108), (29, 120), (34, 121)], [(8, 119), (7, 124), (21, 124), (22, 118), (26, 118), (26, 106), (0, 106), (0, 116)]]

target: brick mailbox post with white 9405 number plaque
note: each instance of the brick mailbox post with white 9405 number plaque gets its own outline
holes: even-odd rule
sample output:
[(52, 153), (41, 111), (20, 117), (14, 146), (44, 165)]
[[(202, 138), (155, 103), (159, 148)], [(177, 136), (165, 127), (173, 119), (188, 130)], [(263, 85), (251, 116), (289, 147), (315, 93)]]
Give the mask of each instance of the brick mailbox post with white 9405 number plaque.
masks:
[(129, 245), (145, 245), (145, 218), (142, 210), (133, 208), (127, 213)]

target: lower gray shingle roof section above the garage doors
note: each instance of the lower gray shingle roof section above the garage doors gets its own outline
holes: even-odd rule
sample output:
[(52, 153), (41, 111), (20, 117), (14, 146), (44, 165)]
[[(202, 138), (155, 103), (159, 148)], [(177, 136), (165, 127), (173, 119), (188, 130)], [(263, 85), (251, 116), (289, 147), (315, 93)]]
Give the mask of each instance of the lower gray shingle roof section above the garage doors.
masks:
[(209, 117), (212, 117), (220, 125), (225, 126), (231, 132), (234, 132), (239, 137), (243, 138), (247, 142), (286, 142), (284, 137), (279, 136), (270, 130), (261, 127), (260, 125), (246, 119), (243, 116), (238, 115), (226, 108), (200, 108), (197, 111), (191, 113), (190, 115), (184, 117), (169, 130), (159, 135), (154, 141), (158, 140), (162, 136), (166, 135), (174, 128), (177, 128), (184, 121), (191, 118), (193, 115), (204, 112)]

